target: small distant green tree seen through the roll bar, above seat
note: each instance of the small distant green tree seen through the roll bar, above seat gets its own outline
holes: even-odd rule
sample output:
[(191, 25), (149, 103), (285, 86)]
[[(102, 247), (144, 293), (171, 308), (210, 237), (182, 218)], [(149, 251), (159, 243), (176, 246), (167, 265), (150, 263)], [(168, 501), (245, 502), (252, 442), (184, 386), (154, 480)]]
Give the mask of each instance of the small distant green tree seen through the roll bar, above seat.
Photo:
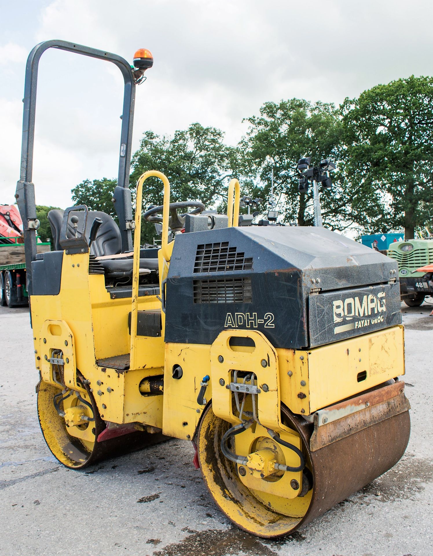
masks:
[(76, 205), (86, 205), (89, 210), (106, 212), (118, 222), (112, 201), (116, 185), (117, 180), (106, 177), (102, 180), (83, 180), (71, 191), (72, 201)]

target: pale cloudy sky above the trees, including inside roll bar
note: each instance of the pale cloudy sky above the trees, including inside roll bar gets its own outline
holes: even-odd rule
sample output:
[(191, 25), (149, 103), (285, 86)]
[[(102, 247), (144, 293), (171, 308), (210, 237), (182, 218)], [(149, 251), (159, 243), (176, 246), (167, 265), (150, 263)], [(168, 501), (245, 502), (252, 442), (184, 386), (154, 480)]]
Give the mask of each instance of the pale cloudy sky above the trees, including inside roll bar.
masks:
[[(265, 101), (340, 103), (377, 83), (432, 75), (433, 4), (412, 0), (0, 0), (0, 203), (19, 178), (29, 51), (63, 39), (155, 63), (137, 88), (133, 151), (145, 130), (191, 122), (236, 143)], [(39, 64), (36, 202), (65, 207), (84, 178), (117, 177), (122, 77), (51, 49)]]

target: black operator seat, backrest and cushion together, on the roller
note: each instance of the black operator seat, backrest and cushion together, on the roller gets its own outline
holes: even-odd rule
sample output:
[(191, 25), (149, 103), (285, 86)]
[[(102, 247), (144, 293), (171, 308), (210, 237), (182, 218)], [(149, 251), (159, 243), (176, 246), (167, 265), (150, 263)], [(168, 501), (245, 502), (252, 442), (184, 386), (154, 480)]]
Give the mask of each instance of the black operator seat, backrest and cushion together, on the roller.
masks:
[[(53, 235), (53, 247), (54, 251), (62, 251), (60, 245), (60, 231), (62, 228), (63, 221), (63, 210), (53, 209), (48, 212), (48, 221), (51, 226), (51, 232)], [(84, 218), (83, 211), (72, 211), (72, 215), (78, 217), (78, 230), (82, 229), (82, 222)], [(110, 274), (118, 273), (130, 273), (132, 274), (132, 253), (125, 254), (125, 258), (118, 257), (122, 251), (122, 241), (119, 227), (112, 217), (105, 212), (101, 211), (88, 211), (87, 213), (87, 225), (86, 225), (86, 238), (89, 239), (90, 230), (92, 229), (92, 224), (94, 219), (100, 218), (102, 220), (101, 226), (97, 231), (95, 239), (92, 241), (90, 246), (90, 254), (95, 257), (111, 257), (98, 259), (99, 262), (104, 267), (104, 271), (107, 276)], [(67, 234), (69, 237), (74, 236), (74, 228), (68, 221)], [(149, 255), (146, 257), (146, 255)], [(144, 257), (143, 257), (144, 256)], [(143, 258), (142, 258), (143, 257)], [(148, 270), (158, 270), (158, 255), (157, 249), (141, 249), (140, 250), (140, 268)]]

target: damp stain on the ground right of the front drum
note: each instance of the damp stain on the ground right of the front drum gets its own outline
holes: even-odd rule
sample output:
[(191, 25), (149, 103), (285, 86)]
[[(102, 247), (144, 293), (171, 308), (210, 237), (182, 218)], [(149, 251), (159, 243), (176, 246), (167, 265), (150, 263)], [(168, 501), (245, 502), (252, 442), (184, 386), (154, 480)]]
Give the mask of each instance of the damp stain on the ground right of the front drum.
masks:
[(361, 498), (373, 495), (381, 502), (409, 500), (422, 492), (426, 483), (431, 482), (433, 482), (433, 463), (428, 459), (409, 456), (399, 461), (387, 473), (364, 486), (359, 495)]

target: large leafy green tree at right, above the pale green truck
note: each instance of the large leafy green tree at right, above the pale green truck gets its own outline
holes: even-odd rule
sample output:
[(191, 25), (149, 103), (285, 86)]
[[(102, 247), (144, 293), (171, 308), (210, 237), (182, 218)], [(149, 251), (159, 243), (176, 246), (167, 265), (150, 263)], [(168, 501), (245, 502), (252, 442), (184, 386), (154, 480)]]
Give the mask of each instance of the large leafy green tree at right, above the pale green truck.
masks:
[(404, 228), (405, 238), (432, 221), (433, 78), (377, 85), (341, 106), (344, 167), (366, 230)]

